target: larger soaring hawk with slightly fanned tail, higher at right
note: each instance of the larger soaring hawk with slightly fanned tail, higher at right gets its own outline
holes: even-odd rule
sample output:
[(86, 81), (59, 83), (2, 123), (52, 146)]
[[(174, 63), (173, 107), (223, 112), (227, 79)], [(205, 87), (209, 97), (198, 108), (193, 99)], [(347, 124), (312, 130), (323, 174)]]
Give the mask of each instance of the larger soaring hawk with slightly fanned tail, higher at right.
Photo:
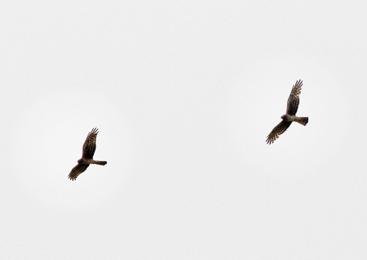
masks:
[(302, 81), (301, 79), (296, 81), (293, 85), (291, 94), (288, 97), (287, 111), (280, 118), (283, 119), (279, 124), (277, 124), (266, 139), (267, 144), (272, 144), (281, 134), (283, 134), (291, 123), (297, 122), (303, 124), (304, 126), (308, 123), (308, 117), (296, 116), (298, 105), (299, 105), (299, 95), (301, 94)]

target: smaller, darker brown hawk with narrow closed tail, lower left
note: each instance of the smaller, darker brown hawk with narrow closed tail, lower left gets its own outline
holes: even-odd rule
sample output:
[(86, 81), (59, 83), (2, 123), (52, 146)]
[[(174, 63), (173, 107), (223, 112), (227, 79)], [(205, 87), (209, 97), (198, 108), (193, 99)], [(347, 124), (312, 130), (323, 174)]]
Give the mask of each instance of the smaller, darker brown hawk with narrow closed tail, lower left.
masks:
[(107, 163), (106, 161), (93, 160), (96, 147), (95, 140), (98, 134), (97, 131), (98, 129), (94, 128), (88, 133), (87, 139), (83, 144), (83, 154), (81, 155), (81, 158), (77, 160), (78, 164), (69, 173), (70, 180), (75, 180), (76, 177), (85, 171), (90, 164), (105, 165)]

